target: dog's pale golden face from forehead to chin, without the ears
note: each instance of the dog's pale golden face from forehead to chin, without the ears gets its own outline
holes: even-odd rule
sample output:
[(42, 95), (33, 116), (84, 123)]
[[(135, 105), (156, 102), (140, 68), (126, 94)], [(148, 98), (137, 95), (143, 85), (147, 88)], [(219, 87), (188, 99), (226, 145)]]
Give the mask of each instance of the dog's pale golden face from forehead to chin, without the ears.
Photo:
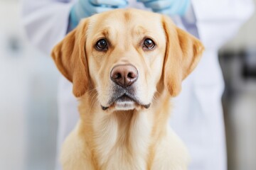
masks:
[(90, 78), (103, 109), (148, 108), (156, 92), (166, 38), (161, 24), (154, 24), (161, 16), (145, 20), (145, 14), (118, 11), (98, 15), (87, 28)]

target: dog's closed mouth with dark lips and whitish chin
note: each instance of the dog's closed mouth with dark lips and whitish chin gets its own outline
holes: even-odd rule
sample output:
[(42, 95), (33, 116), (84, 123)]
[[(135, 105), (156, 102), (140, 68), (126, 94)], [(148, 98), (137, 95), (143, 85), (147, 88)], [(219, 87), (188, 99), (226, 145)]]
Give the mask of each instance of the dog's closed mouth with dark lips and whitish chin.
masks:
[(115, 89), (110, 102), (107, 106), (101, 106), (103, 111), (109, 108), (114, 108), (117, 111), (128, 111), (142, 106), (143, 108), (149, 108), (151, 103), (144, 104), (139, 101), (139, 99), (133, 95), (133, 89)]

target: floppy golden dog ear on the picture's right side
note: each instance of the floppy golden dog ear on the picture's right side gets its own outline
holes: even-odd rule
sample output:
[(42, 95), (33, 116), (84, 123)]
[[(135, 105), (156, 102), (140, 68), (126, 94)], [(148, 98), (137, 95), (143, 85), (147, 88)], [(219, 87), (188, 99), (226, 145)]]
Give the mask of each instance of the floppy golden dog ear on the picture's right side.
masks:
[(166, 33), (164, 85), (171, 96), (177, 96), (181, 81), (196, 67), (204, 47), (193, 35), (177, 28), (169, 17), (163, 16), (162, 23)]

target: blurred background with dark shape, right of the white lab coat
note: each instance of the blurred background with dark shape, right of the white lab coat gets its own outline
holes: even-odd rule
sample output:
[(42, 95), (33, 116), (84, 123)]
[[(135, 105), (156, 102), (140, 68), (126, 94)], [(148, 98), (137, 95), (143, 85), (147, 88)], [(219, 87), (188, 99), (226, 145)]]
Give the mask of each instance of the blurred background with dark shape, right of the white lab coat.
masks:
[(256, 13), (219, 52), (229, 170), (256, 169), (255, 30)]

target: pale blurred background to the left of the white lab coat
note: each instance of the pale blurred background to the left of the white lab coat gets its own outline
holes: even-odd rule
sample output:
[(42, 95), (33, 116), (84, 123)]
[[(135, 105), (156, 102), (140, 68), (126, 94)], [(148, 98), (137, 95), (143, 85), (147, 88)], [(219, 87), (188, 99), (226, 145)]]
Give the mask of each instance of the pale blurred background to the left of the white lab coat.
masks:
[(0, 0), (0, 169), (55, 166), (58, 72), (23, 33), (18, 1)]

